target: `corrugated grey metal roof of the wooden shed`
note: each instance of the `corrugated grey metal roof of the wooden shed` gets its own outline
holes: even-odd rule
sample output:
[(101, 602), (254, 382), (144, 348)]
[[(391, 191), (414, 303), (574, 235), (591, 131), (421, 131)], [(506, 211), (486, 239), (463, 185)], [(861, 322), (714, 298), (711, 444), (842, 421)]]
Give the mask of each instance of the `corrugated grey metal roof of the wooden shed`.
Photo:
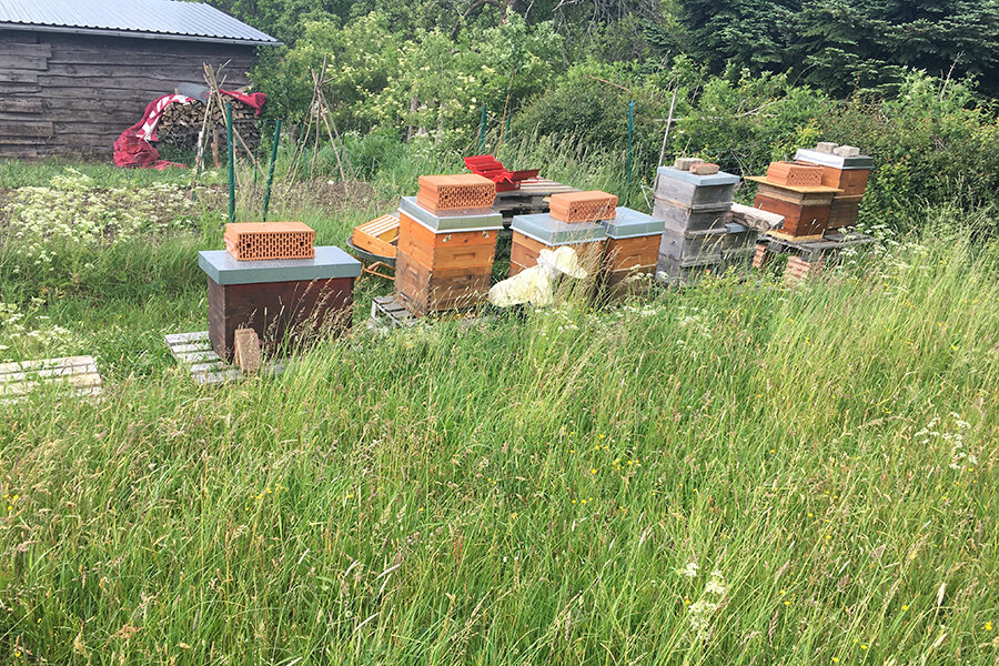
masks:
[(214, 7), (175, 0), (0, 0), (0, 29), (4, 28), (279, 43)]

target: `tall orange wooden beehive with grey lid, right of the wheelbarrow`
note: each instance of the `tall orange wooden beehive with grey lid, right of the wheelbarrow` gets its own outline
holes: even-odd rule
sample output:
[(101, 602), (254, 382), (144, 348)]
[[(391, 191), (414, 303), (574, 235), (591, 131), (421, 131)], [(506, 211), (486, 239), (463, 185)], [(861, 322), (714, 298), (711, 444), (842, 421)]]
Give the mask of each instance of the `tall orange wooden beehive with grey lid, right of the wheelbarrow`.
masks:
[(395, 295), (420, 315), (468, 307), (488, 292), (500, 213), (438, 215), (405, 196), (398, 206)]

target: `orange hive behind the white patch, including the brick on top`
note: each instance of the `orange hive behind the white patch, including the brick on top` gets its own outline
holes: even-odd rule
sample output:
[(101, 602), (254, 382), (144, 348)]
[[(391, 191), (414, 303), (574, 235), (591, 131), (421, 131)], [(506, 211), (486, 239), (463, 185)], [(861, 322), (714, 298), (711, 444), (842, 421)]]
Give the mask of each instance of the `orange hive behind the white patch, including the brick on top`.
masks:
[(602, 265), (607, 243), (605, 223), (617, 215), (617, 196), (592, 190), (552, 195), (548, 213), (514, 215), (511, 224), (509, 275), (537, 265), (542, 250), (571, 246), (591, 275)]

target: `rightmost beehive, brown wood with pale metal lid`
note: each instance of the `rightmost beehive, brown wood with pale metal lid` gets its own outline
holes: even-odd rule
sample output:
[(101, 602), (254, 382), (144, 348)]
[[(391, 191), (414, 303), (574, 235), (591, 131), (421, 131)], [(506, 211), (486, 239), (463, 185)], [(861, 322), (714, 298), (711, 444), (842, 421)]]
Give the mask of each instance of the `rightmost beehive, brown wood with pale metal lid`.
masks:
[(815, 149), (799, 149), (795, 161), (820, 168), (821, 184), (839, 190), (833, 198), (827, 229), (856, 224), (874, 159), (852, 145), (819, 143)]

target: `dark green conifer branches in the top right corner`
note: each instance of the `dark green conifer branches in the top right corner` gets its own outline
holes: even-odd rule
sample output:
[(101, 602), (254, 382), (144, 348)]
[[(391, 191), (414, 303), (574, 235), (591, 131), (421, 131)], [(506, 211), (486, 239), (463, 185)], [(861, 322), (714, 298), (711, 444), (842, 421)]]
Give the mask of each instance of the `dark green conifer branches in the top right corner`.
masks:
[[(677, 0), (684, 30), (662, 46), (753, 72), (793, 70), (829, 94), (890, 91), (907, 69), (999, 91), (999, 4), (896, 0)], [(663, 42), (666, 42), (665, 44)]]

